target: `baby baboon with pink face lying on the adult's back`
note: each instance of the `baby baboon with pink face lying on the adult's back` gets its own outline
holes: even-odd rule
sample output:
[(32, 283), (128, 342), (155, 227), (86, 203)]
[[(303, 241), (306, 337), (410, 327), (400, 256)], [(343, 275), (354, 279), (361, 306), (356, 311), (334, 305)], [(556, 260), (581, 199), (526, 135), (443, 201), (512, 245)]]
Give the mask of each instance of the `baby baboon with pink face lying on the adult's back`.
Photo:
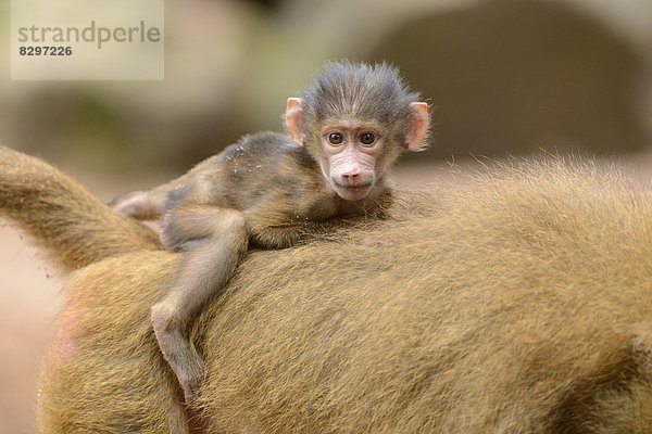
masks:
[(387, 169), (401, 150), (424, 148), (427, 104), (393, 67), (327, 64), (300, 95), (287, 102), (289, 135), (244, 137), (178, 179), (113, 201), (136, 218), (163, 215), (163, 244), (184, 252), (152, 323), (187, 398), (203, 376), (189, 324), (248, 243), (288, 247), (314, 234), (315, 222), (384, 215), (391, 203)]

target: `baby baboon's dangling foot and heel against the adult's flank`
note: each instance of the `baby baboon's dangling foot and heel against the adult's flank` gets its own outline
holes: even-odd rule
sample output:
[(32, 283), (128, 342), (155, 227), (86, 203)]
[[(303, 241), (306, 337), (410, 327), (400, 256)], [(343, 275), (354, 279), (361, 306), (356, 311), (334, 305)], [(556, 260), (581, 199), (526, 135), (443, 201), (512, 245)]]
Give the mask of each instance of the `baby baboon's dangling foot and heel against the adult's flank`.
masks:
[(152, 308), (151, 320), (163, 358), (176, 375), (186, 403), (189, 403), (203, 381), (203, 360), (184, 335), (184, 330), (174, 326), (164, 304)]

